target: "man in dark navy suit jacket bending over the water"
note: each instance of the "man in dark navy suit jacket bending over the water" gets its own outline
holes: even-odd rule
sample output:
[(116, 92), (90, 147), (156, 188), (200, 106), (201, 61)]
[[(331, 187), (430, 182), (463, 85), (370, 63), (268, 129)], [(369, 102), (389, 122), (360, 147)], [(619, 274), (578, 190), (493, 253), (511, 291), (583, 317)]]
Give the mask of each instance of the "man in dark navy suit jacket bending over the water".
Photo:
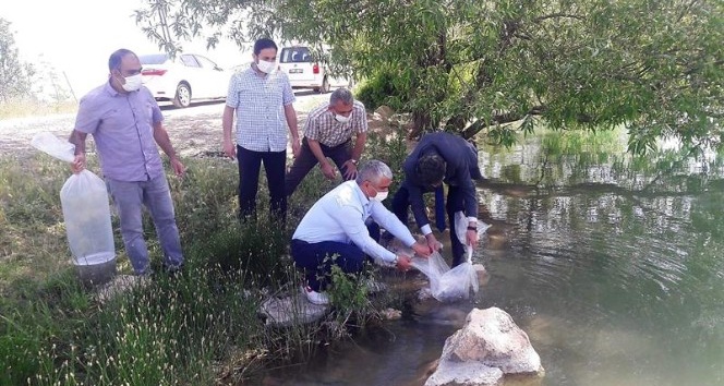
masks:
[(422, 200), (445, 182), (448, 185), (445, 205), (450, 224), (452, 266), (463, 263), (464, 246), (456, 234), (455, 213), (463, 210), (468, 218), (467, 243), (478, 245), (478, 192), (472, 180), (482, 178), (478, 150), (458, 135), (439, 132), (424, 135), (402, 166), (405, 181), (393, 198), (393, 212), (407, 225), (408, 207), (425, 236), (431, 251), (442, 246), (433, 234)]

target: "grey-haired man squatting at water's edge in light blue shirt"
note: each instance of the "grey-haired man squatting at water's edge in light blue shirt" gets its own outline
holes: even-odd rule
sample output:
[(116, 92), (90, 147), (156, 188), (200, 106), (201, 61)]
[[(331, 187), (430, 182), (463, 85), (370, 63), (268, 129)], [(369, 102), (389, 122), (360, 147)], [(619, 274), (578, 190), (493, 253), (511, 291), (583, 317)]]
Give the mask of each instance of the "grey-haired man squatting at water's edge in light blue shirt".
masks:
[(310, 302), (327, 304), (324, 293), (331, 264), (358, 274), (370, 255), (377, 263), (410, 268), (410, 257), (396, 255), (379, 245), (365, 222), (372, 219), (421, 256), (430, 256), (426, 243), (415, 241), (410, 230), (382, 202), (387, 197), (393, 171), (378, 160), (367, 161), (355, 181), (347, 181), (319, 198), (304, 215), (291, 241), (291, 255), (306, 270), (305, 293)]

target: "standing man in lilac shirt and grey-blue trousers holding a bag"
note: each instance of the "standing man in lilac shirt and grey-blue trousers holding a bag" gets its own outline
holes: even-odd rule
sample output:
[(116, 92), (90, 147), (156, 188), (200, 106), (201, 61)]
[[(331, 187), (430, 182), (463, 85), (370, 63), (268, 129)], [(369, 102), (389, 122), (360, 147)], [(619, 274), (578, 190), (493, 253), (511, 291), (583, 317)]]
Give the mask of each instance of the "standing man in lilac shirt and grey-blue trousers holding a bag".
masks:
[(184, 172), (166, 129), (164, 116), (150, 92), (141, 84), (141, 62), (128, 49), (108, 60), (110, 76), (102, 86), (81, 99), (75, 130), (74, 172), (85, 168), (85, 141), (93, 135), (104, 179), (113, 197), (121, 222), (125, 253), (136, 275), (150, 273), (144, 240), (143, 206), (148, 208), (164, 251), (164, 265), (176, 272), (183, 264), (179, 229), (161, 158), (156, 145), (168, 155), (177, 176)]

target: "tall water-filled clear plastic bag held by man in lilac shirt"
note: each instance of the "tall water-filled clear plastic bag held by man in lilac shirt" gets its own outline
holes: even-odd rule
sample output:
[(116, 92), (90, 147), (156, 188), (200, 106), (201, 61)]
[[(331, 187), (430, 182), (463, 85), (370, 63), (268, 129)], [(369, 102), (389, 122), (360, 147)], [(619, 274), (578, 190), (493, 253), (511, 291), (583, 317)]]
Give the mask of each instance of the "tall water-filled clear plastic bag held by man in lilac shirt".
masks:
[[(39, 133), (31, 145), (60, 160), (72, 162), (73, 144), (50, 133)], [(84, 169), (68, 178), (60, 190), (68, 243), (76, 265), (96, 265), (116, 257), (106, 183)]]

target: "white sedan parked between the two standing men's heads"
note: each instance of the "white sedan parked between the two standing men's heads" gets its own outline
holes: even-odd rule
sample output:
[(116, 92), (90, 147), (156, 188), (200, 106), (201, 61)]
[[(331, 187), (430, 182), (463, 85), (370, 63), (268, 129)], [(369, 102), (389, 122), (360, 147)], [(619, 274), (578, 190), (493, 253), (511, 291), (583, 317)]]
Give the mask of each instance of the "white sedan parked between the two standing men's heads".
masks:
[(176, 107), (189, 107), (201, 99), (224, 99), (227, 96), (231, 72), (218, 67), (206, 57), (181, 53), (171, 59), (166, 53), (138, 57), (144, 86), (156, 100), (170, 100)]

